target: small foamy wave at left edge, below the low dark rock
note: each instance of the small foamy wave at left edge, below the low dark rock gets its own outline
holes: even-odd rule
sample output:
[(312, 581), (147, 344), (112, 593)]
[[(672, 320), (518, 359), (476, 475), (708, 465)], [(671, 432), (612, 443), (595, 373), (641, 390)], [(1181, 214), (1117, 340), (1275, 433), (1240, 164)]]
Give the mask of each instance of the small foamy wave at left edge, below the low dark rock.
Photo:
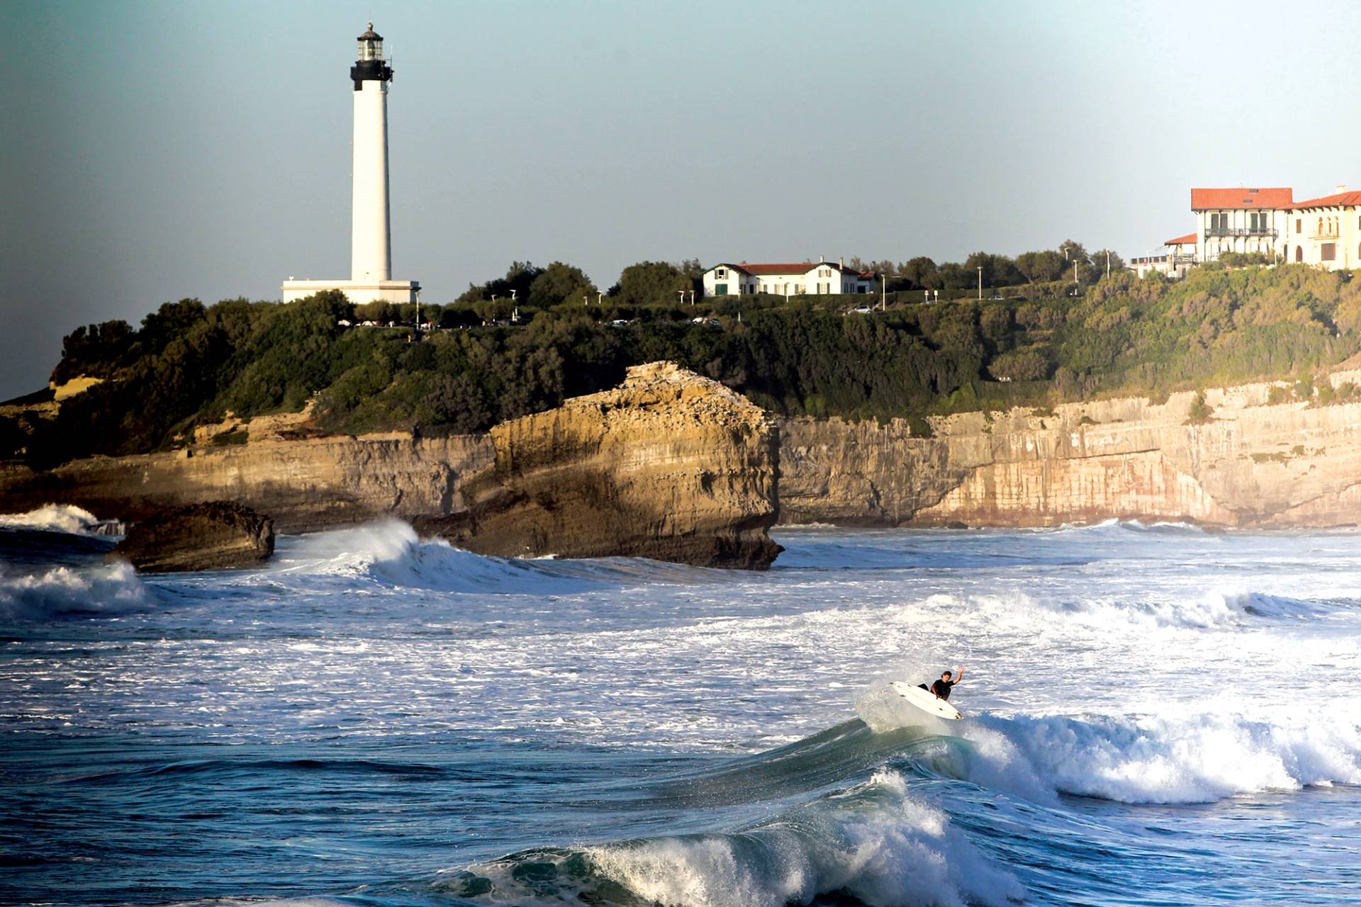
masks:
[(151, 605), (151, 594), (127, 563), (0, 577), (0, 619), (122, 615)]

